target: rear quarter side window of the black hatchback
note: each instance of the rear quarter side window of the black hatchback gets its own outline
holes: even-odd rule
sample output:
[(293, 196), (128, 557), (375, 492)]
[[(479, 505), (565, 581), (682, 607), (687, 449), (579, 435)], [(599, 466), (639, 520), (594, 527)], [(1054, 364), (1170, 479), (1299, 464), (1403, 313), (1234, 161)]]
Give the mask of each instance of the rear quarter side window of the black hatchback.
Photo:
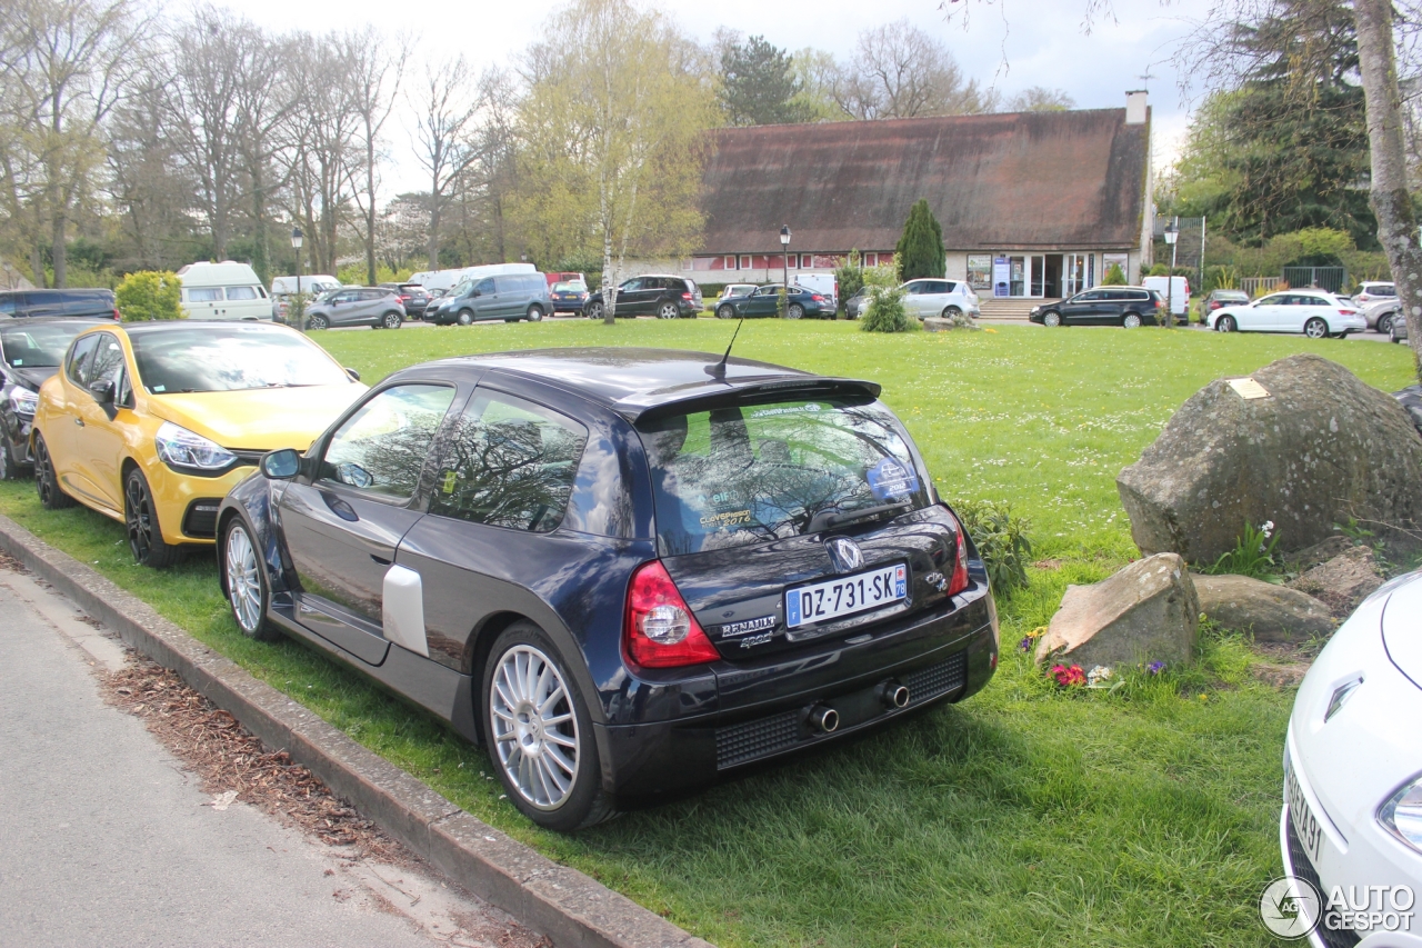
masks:
[(535, 534), (557, 530), (587, 430), (512, 396), (475, 393), (441, 438), (429, 512)]

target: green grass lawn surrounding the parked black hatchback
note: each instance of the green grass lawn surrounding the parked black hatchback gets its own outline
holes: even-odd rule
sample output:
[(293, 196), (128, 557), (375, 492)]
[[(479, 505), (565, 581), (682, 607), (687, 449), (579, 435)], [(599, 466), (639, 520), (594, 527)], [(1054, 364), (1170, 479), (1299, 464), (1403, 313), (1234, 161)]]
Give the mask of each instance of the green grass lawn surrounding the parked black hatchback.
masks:
[[(425, 359), (533, 346), (724, 350), (718, 320), (346, 332), (317, 339), (367, 381)], [(1037, 555), (1062, 561), (1001, 601), (1004, 662), (985, 692), (897, 727), (654, 810), (559, 837), (501, 801), (486, 759), (428, 716), (293, 642), (243, 639), (215, 567), (134, 567), (122, 530), (46, 512), (0, 484), (0, 512), (475, 816), (721, 945), (1263, 945), (1278, 875), (1280, 756), (1291, 692), (1254, 683), (1237, 636), (1200, 668), (1058, 693), (1011, 643), (1068, 582), (1133, 552), (1115, 475), (1192, 393), (1294, 352), (1384, 390), (1405, 347), (1140, 329), (997, 327), (872, 336), (852, 323), (748, 322), (737, 354), (875, 379), (950, 501), (1007, 500)], [(1203, 695), (1203, 699), (1202, 699)]]

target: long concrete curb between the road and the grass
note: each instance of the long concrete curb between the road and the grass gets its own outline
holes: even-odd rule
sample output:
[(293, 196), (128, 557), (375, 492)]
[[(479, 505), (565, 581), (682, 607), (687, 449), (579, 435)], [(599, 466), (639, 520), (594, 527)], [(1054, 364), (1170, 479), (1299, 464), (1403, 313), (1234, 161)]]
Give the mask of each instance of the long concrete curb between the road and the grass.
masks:
[(269, 747), (286, 749), (451, 880), (559, 948), (711, 948), (626, 895), (474, 818), (7, 517), (0, 517), (0, 549), (134, 649), (178, 672)]

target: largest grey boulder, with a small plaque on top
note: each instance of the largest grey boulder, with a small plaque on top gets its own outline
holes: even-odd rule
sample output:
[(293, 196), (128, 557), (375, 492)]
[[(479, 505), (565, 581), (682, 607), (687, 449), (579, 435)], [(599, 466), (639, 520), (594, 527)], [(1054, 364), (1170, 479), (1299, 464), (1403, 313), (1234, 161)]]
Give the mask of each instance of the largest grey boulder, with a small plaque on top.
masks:
[(1246, 399), (1226, 379), (1194, 393), (1116, 478), (1142, 552), (1207, 564), (1244, 524), (1273, 521), (1291, 551), (1349, 517), (1399, 528), (1422, 520), (1422, 437), (1396, 399), (1311, 354), (1253, 379), (1266, 397)]

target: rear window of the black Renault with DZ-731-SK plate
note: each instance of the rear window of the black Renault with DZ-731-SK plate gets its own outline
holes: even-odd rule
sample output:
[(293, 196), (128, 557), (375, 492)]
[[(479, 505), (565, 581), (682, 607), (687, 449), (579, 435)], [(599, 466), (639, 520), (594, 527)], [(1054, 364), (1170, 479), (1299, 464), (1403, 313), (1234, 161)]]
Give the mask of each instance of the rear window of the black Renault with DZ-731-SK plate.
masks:
[(813, 532), (816, 514), (930, 502), (899, 420), (877, 401), (715, 409), (638, 431), (664, 557)]

